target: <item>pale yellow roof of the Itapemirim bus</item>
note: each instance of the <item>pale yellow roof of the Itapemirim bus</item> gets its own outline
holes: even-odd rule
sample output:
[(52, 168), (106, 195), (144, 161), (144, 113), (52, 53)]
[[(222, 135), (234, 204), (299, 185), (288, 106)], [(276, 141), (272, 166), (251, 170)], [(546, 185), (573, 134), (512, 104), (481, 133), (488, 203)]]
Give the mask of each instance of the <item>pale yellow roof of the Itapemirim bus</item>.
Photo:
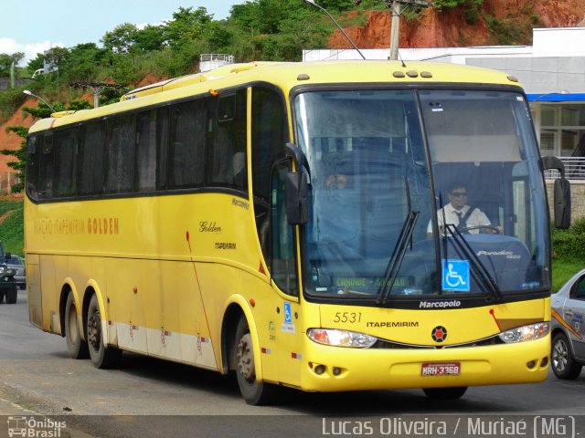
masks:
[(49, 119), (38, 120), (30, 132), (56, 128), (69, 123), (106, 117), (123, 111), (137, 110), (165, 101), (221, 94), (228, 89), (253, 82), (270, 82), (285, 94), (299, 85), (313, 84), (491, 84), (515, 85), (516, 78), (502, 71), (458, 66), (437, 62), (400, 61), (317, 61), (317, 62), (250, 62), (229, 64), (205, 73), (187, 75), (134, 89), (118, 103), (93, 110), (61, 111)]

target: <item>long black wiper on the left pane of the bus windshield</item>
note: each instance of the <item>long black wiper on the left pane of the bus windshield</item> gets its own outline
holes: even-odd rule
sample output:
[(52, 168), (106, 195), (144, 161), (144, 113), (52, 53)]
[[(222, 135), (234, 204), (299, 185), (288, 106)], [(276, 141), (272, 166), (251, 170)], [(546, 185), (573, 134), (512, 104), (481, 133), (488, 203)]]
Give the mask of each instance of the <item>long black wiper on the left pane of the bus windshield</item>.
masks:
[(386, 267), (386, 272), (384, 273), (384, 281), (380, 287), (378, 287), (378, 298), (376, 298), (376, 304), (378, 305), (386, 304), (389, 292), (392, 290), (394, 282), (396, 281), (396, 277), (399, 275), (400, 266), (402, 265), (402, 260), (404, 260), (404, 255), (406, 254), (409, 243), (410, 246), (412, 246), (412, 232), (414, 231), (414, 225), (417, 223), (417, 219), (419, 219), (420, 216), (420, 212), (415, 212), (412, 210), (412, 204), (410, 202), (409, 179), (404, 178), (404, 180), (409, 206), (409, 214), (407, 214), (406, 220), (404, 221), (404, 224), (402, 224), (399, 240), (394, 247), (392, 256), (388, 260), (388, 266)]

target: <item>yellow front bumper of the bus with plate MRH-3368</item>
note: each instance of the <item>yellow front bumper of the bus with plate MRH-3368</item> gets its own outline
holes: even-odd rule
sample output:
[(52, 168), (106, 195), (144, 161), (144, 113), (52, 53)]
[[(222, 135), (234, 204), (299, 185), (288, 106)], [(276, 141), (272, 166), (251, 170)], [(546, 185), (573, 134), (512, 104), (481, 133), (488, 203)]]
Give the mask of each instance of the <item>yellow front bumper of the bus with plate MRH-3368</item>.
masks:
[(544, 381), (550, 335), (487, 347), (346, 349), (308, 341), (303, 391), (466, 387)]

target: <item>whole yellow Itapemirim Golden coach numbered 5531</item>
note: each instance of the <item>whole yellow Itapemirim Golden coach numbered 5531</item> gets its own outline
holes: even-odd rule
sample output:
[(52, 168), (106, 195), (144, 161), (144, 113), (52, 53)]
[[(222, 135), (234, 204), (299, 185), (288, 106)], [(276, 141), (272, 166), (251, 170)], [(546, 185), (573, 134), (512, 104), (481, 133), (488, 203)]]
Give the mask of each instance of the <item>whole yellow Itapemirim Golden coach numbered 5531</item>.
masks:
[(29, 132), (30, 320), (98, 368), (235, 372), (250, 404), (542, 381), (551, 162), (492, 70), (258, 62), (135, 89)]

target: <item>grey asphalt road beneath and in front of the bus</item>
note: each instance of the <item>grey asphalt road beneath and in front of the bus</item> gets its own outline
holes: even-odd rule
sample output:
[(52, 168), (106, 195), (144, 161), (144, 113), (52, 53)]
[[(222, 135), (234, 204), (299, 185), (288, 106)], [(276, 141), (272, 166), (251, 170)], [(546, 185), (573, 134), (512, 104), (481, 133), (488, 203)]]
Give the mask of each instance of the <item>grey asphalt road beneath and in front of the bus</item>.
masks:
[[(119, 370), (71, 360), (64, 339), (29, 324), (26, 299), (20, 291), (16, 305), (0, 305), (0, 401), (63, 419), (77, 431), (70, 436), (585, 435), (585, 370), (576, 381), (550, 373), (539, 384), (470, 388), (458, 401), (419, 390), (291, 390), (275, 406), (252, 407), (215, 372), (127, 353)], [(15, 412), (0, 404), (2, 413)]]

